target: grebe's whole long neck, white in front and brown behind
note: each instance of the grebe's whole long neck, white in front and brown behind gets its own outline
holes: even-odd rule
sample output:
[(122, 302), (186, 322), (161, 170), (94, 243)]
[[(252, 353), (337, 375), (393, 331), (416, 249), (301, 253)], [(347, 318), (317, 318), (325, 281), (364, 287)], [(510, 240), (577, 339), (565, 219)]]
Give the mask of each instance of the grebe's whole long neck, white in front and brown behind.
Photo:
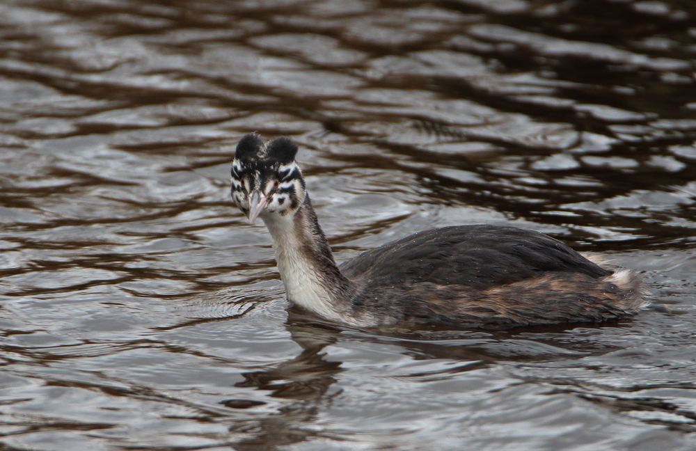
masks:
[(264, 214), (287, 299), (329, 319), (345, 319), (353, 285), (333, 260), (309, 196), (290, 216)]

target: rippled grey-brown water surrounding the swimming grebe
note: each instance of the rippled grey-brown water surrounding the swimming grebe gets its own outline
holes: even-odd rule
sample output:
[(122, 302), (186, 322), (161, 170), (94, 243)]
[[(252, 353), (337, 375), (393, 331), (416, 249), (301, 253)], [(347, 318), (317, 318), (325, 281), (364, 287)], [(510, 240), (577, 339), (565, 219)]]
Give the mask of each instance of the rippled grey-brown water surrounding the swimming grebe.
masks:
[[(696, 449), (696, 6), (0, 6), (8, 450)], [(290, 315), (228, 198), (301, 143), (338, 260), (512, 223), (643, 271), (631, 321), (372, 334)]]

